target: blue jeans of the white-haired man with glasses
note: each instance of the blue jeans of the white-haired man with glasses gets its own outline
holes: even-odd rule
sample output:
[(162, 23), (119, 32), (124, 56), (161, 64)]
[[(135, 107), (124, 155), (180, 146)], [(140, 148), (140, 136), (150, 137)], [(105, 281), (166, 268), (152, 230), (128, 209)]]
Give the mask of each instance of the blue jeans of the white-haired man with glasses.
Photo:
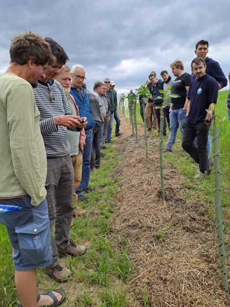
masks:
[(85, 130), (85, 147), (83, 152), (83, 162), (82, 162), (82, 178), (79, 187), (76, 189), (76, 194), (78, 196), (83, 194), (83, 188), (88, 187), (89, 177), (90, 177), (90, 159), (92, 150), (92, 140), (93, 140), (93, 130)]

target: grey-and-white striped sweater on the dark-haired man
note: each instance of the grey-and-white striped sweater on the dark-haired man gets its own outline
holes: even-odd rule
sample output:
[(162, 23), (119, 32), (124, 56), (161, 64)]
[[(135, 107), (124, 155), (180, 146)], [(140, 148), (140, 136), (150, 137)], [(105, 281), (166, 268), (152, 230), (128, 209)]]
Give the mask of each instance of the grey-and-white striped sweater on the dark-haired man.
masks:
[(47, 157), (67, 155), (70, 152), (67, 128), (54, 122), (56, 116), (71, 115), (63, 87), (56, 80), (48, 83), (38, 81), (34, 95), (40, 111), (40, 128)]

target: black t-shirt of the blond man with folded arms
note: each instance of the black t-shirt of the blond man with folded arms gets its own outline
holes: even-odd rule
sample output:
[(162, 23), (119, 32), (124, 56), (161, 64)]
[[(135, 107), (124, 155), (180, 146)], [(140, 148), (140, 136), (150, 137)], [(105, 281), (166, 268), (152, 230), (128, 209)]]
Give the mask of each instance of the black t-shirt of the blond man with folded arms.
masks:
[(171, 87), (171, 93), (177, 94), (180, 97), (171, 98), (171, 103), (173, 103), (172, 109), (183, 108), (183, 106), (185, 105), (186, 94), (187, 94), (187, 90), (185, 87), (189, 86), (190, 82), (191, 82), (191, 75), (188, 73), (182, 74), (180, 77), (177, 77), (173, 81)]

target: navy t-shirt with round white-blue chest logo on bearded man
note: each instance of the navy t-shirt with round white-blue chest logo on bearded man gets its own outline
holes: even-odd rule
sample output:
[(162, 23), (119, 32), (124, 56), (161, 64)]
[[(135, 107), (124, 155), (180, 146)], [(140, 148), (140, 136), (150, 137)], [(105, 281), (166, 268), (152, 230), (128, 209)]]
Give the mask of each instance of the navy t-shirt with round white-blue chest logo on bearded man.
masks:
[(205, 74), (200, 79), (194, 79), (190, 83), (188, 99), (190, 100), (190, 111), (186, 117), (188, 124), (195, 125), (203, 121), (206, 117), (206, 109), (210, 103), (217, 102), (218, 83), (217, 81)]

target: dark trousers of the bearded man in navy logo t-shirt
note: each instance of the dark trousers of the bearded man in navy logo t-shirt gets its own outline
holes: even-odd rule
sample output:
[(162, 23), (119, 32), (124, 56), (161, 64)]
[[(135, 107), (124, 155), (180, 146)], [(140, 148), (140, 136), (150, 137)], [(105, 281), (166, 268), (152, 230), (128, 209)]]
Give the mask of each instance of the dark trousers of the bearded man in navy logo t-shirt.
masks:
[[(194, 125), (190, 125), (187, 122), (183, 123), (183, 137), (182, 147), (189, 155), (199, 164), (201, 171), (207, 169), (208, 164), (208, 131), (209, 127), (204, 121)], [(194, 145), (193, 141), (197, 138), (197, 146)]]

